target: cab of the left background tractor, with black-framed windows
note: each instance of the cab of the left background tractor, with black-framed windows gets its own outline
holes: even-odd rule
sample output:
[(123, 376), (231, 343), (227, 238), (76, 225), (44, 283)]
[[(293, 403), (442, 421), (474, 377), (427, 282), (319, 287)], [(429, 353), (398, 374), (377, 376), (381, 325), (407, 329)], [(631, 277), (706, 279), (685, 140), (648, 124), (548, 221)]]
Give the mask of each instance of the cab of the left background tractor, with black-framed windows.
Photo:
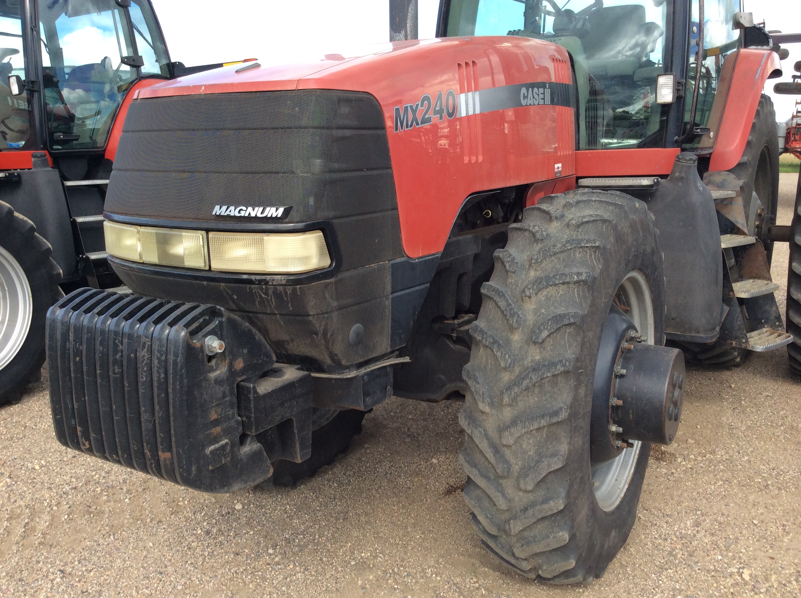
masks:
[(147, 0), (2, 0), (0, 36), (0, 150), (103, 151), (131, 86), (171, 76)]

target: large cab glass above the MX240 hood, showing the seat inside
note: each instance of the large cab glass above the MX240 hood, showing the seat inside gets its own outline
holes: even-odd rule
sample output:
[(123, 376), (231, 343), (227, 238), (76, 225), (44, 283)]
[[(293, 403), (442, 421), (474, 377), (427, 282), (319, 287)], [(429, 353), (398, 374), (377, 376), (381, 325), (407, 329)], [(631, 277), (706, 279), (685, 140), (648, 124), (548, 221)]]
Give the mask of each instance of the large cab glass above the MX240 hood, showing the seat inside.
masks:
[[(576, 62), (582, 149), (662, 146), (672, 0), (452, 0), (449, 35), (519, 35), (564, 46)], [(570, 6), (570, 8), (567, 8)]]

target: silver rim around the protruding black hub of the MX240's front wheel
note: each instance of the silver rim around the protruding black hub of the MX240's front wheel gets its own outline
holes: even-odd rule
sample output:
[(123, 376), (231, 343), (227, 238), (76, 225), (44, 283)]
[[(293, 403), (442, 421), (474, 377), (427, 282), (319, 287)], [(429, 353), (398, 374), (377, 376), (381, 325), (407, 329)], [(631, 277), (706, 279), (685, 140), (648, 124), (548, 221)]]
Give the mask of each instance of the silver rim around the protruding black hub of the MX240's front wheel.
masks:
[[(642, 335), (642, 342), (654, 344), (654, 303), (645, 275), (637, 270), (630, 271), (618, 287), (618, 295), (622, 295), (623, 302), (630, 308), (626, 315)], [(604, 511), (612, 511), (626, 494), (641, 447), (642, 443), (634, 440), (633, 446), (614, 459), (591, 464), (595, 500)]]

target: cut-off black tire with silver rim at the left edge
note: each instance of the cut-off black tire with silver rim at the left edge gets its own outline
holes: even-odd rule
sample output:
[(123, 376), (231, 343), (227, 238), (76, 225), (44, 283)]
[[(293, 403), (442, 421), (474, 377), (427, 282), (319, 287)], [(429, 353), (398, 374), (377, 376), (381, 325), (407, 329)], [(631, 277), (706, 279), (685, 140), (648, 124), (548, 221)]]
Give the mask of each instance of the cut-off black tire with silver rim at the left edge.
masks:
[(45, 362), (45, 316), (61, 269), (34, 223), (0, 202), (0, 405), (15, 403)]

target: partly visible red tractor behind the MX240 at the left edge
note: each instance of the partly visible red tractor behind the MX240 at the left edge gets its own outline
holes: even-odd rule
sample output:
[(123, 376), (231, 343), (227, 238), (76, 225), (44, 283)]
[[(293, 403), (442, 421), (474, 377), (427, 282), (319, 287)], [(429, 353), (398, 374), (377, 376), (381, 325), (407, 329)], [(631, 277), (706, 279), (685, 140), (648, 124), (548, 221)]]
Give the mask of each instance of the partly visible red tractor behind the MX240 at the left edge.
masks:
[(150, 0), (0, 0), (0, 405), (45, 359), (63, 291), (119, 287), (103, 201), (136, 90), (170, 62)]

